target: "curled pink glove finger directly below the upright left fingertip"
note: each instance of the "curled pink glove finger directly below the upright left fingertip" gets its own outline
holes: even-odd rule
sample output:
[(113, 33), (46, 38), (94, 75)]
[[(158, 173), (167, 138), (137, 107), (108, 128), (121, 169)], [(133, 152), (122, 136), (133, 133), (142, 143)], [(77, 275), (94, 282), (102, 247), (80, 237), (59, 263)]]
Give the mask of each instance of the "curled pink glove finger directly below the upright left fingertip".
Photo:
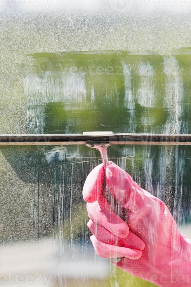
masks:
[[(101, 200), (100, 200), (101, 199)], [(121, 238), (129, 234), (129, 226), (117, 214), (108, 209), (107, 201), (100, 196), (99, 202), (87, 203), (89, 218)]]

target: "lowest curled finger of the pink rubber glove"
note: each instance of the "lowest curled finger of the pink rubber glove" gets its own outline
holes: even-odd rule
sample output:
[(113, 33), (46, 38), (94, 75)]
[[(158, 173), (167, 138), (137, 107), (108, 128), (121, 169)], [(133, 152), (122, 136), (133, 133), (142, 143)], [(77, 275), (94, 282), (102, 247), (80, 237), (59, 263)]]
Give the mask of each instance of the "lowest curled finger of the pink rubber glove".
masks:
[(95, 252), (98, 254), (98, 256), (101, 256), (103, 258), (126, 257), (134, 260), (142, 256), (142, 252), (140, 250), (109, 245), (96, 239), (94, 235), (92, 235), (90, 239), (95, 249)]

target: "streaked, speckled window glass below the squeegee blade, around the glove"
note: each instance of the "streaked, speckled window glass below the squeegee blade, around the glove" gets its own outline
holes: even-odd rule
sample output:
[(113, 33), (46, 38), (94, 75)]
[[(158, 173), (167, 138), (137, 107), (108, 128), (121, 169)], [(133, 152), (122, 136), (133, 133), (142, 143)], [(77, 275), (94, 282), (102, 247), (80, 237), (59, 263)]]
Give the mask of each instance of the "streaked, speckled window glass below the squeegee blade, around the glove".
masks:
[[(29, 262), (32, 259), (28, 258), (26, 268), (29, 274), (43, 270), (43, 274), (51, 276), (53, 285), (50, 286), (113, 286), (114, 282), (120, 286), (121, 280), (142, 286), (140, 279), (116, 271), (107, 259), (95, 256), (89, 240), (91, 233), (86, 227), (88, 216), (82, 187), (88, 173), (101, 162), (99, 154), (81, 146), (58, 146), (56, 149), (55, 153), (55, 147), (51, 146), (1, 147), (4, 158), (1, 246), (11, 244), (15, 246), (14, 252), (21, 248), (17, 252), (22, 254), (19, 242), (37, 240), (39, 243), (35, 247), (31, 243), (28, 248), (34, 248), (34, 254), (38, 252), (39, 265), (31, 273)], [(180, 228), (185, 228), (189, 235), (190, 147), (114, 146), (108, 151), (110, 160), (167, 204)], [(11, 260), (12, 255), (8, 258)], [(19, 255), (20, 272), (24, 272), (22, 260)], [(48, 267), (44, 267), (44, 261)], [(16, 272), (14, 264), (10, 268), (3, 268), (5, 274), (6, 270)], [(72, 268), (76, 271), (71, 275)], [(53, 279), (57, 283), (53, 283)]]

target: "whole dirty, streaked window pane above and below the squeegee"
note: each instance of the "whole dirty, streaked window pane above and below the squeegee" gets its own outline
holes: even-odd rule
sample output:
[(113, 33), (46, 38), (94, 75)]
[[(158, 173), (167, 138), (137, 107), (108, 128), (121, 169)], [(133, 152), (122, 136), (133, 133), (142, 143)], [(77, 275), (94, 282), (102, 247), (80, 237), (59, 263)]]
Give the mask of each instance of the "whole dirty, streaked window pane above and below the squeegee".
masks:
[[(186, 2), (3, 2), (1, 134), (190, 133)], [(190, 147), (116, 145), (108, 153), (191, 236)], [(81, 191), (100, 162), (85, 146), (0, 147), (5, 286), (153, 286), (95, 255)]]

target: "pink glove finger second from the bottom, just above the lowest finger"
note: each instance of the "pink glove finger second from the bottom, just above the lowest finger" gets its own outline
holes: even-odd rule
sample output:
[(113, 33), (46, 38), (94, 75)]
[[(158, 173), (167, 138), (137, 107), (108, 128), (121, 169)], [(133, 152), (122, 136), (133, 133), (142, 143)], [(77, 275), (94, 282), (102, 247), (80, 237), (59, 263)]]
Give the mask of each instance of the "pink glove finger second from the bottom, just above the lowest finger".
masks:
[(93, 235), (95, 235), (95, 237), (98, 240), (104, 243), (107, 243), (110, 245), (117, 245), (121, 247), (132, 248), (132, 249), (138, 249), (141, 251), (145, 248), (144, 242), (131, 231), (129, 231), (128, 236), (126, 236), (125, 238), (120, 238), (110, 233), (103, 226), (96, 225), (96, 228), (95, 228), (95, 223), (91, 219), (89, 220), (87, 226), (91, 230)]

